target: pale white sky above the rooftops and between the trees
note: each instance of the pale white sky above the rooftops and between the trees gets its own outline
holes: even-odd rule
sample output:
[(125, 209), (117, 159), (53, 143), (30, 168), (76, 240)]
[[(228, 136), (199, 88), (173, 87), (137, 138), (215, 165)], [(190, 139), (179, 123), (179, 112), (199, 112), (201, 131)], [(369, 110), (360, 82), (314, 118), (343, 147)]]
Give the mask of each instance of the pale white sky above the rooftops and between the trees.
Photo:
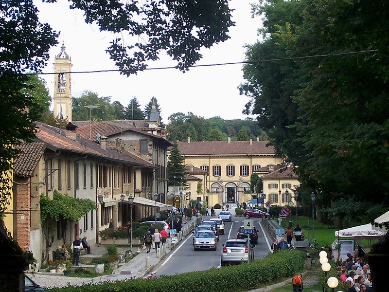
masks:
[[(105, 51), (116, 35), (100, 32), (97, 25), (86, 24), (83, 12), (71, 10), (67, 0), (58, 0), (57, 3), (34, 2), (39, 10), (39, 20), (61, 32), (58, 45), (50, 50), (50, 59), (43, 69), (44, 73), (53, 72), (54, 57), (61, 51), (62, 42), (66, 53), (71, 56), (72, 72), (117, 69)], [(261, 27), (261, 20), (258, 17), (251, 18), (250, 2), (252, 1), (229, 1), (230, 8), (235, 9), (231, 14), (232, 20), (236, 22), (230, 28), (230, 39), (213, 45), (210, 49), (203, 48), (200, 51), (203, 58), (196, 65), (244, 61), (244, 45), (253, 44), (260, 38), (257, 30)], [(177, 65), (167, 55), (161, 55), (160, 60), (148, 64), (150, 68)], [(136, 97), (141, 110), (155, 96), (164, 123), (168, 123), (168, 117), (176, 112), (193, 112), (196, 116), (205, 118), (220, 116), (226, 120), (254, 118), (242, 113), (249, 101), (238, 90), (238, 86), (245, 82), (242, 66), (236, 64), (191, 68), (186, 73), (177, 69), (150, 70), (129, 77), (119, 72), (72, 73), (71, 92), (73, 97), (79, 97), (83, 91), (93, 91), (99, 97), (110, 96), (111, 102), (119, 101), (124, 107), (132, 97)], [(53, 96), (53, 75), (40, 77), (46, 80)]]

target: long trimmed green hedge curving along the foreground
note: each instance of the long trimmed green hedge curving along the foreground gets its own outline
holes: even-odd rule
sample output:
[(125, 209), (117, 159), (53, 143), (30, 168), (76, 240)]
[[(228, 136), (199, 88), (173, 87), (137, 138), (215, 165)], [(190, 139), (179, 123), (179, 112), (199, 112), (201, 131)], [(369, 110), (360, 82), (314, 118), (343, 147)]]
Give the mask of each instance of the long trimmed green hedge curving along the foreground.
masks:
[(174, 287), (176, 292), (187, 292), (188, 287), (196, 291), (231, 292), (256, 289), (264, 284), (272, 284), (284, 277), (301, 272), (306, 253), (285, 250), (268, 254), (263, 259), (255, 259), (250, 264), (232, 265), (220, 269), (196, 271), (171, 276), (160, 276), (155, 280), (141, 278), (126, 281), (104, 282), (83, 286), (53, 288), (52, 292), (150, 292), (165, 291)]

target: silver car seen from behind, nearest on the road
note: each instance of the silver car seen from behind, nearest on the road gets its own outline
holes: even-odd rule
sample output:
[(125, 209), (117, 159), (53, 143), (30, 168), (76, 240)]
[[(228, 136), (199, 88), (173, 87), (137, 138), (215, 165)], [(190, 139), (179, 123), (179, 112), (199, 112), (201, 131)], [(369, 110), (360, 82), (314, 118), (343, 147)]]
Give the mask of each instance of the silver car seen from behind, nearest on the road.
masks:
[(220, 258), (220, 265), (224, 267), (227, 263), (248, 262), (254, 259), (254, 245), (246, 239), (227, 239), (222, 244), (223, 249)]

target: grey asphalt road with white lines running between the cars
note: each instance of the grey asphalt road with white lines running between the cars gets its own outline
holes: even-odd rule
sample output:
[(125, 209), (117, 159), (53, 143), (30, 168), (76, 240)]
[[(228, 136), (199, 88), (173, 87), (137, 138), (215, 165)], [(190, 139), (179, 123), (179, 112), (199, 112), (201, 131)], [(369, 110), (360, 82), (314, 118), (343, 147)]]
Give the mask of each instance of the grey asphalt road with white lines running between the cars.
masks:
[[(209, 217), (203, 217), (205, 220)], [(270, 252), (272, 239), (265, 233), (265, 229), (260, 225), (261, 219), (253, 219), (258, 232), (258, 244), (254, 248), (254, 257), (263, 258)], [(176, 249), (169, 254), (164, 261), (161, 261), (154, 269), (154, 273), (159, 275), (174, 275), (193, 271), (204, 271), (212, 267), (220, 267), (220, 254), (222, 243), (227, 238), (236, 238), (237, 229), (243, 225), (244, 218), (232, 218), (232, 222), (224, 225), (225, 234), (220, 236), (217, 242), (216, 251), (194, 251), (193, 235), (189, 235), (182, 240)]]

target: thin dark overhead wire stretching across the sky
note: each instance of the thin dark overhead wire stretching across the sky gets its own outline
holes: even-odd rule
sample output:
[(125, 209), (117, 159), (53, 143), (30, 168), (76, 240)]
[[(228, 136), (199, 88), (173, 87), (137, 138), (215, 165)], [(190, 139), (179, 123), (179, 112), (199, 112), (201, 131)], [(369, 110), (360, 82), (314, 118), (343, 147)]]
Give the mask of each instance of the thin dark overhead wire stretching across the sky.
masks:
[[(308, 56), (300, 56), (300, 57), (275, 58), (275, 59), (243, 61), (243, 62), (230, 62), (230, 63), (217, 63), (217, 64), (205, 64), (205, 65), (192, 65), (192, 66), (189, 66), (189, 68), (225, 66), (225, 65), (236, 65), (236, 64), (257, 64), (257, 63), (265, 63), (265, 62), (287, 61), (287, 60), (301, 60), (301, 59), (318, 58), (318, 57), (329, 57), (329, 56), (369, 54), (369, 53), (375, 53), (375, 52), (378, 52), (378, 50), (366, 50), (366, 51), (345, 52), (345, 53), (335, 53), (335, 54), (308, 55)], [(177, 69), (177, 66), (145, 68), (142, 71), (145, 71), (145, 70), (165, 70), (165, 69)], [(61, 72), (61, 73), (63, 73), (63, 74), (65, 74), (65, 73), (76, 74), (76, 73), (106, 73), (106, 72), (120, 72), (120, 70), (119, 69), (113, 69), (113, 70), (76, 71), (76, 72)], [(53, 74), (58, 74), (58, 73), (26, 73), (26, 75), (53, 75)]]

